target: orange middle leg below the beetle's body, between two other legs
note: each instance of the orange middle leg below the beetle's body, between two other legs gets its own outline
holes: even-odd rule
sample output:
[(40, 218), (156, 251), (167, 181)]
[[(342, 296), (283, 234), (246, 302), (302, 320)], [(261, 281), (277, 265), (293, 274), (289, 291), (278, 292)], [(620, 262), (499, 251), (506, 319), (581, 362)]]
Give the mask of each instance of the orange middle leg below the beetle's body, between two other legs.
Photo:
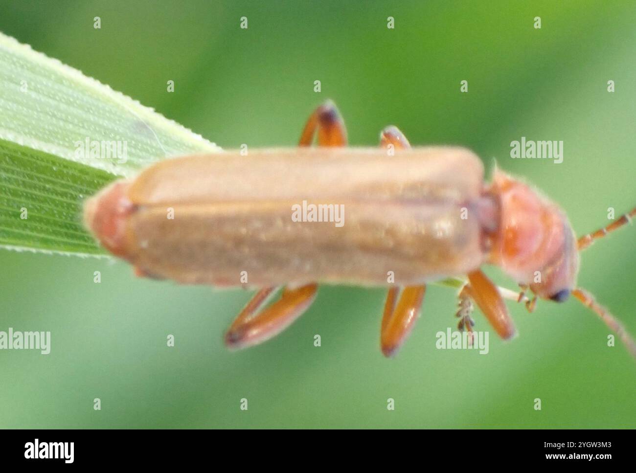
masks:
[(402, 291), (398, 287), (389, 289), (380, 334), (380, 348), (385, 357), (394, 355), (411, 333), (420, 315), (424, 292), (425, 285), (404, 287)]

